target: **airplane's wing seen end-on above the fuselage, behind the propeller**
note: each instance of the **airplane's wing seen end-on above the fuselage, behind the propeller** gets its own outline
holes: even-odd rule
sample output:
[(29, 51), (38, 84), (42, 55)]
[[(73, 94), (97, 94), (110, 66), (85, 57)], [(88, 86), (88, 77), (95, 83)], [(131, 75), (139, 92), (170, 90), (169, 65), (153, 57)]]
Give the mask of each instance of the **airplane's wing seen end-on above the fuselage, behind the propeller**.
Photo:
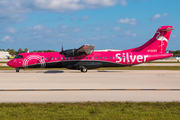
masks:
[(93, 45), (83, 45), (80, 48), (77, 49), (77, 53), (85, 53), (87, 55), (90, 55), (94, 51)]

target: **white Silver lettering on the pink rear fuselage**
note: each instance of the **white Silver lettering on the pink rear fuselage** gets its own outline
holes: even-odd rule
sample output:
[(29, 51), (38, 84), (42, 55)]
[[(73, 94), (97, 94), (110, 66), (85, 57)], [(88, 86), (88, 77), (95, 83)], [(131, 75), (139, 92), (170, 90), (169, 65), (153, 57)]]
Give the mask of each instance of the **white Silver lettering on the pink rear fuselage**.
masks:
[(148, 55), (132, 55), (132, 53), (117, 53), (118, 63), (142, 63), (146, 62)]

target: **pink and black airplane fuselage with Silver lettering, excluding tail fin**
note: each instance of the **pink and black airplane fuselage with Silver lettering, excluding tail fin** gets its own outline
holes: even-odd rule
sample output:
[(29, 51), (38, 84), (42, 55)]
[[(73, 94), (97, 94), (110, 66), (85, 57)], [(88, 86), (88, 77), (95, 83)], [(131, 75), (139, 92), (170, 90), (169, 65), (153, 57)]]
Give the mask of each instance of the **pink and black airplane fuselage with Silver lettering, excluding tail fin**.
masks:
[(21, 53), (23, 58), (14, 58), (7, 64), (13, 68), (69, 68), (86, 66), (88, 69), (98, 67), (125, 67), (152, 60), (171, 57), (171, 53), (148, 53), (124, 51), (94, 51), (90, 55), (65, 57), (59, 52)]

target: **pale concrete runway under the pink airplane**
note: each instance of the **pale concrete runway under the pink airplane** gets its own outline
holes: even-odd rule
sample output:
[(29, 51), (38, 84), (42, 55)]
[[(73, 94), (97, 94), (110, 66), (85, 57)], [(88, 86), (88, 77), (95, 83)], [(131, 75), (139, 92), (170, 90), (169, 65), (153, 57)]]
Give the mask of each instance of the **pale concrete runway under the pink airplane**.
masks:
[(180, 101), (180, 71), (0, 70), (0, 76), (0, 102)]

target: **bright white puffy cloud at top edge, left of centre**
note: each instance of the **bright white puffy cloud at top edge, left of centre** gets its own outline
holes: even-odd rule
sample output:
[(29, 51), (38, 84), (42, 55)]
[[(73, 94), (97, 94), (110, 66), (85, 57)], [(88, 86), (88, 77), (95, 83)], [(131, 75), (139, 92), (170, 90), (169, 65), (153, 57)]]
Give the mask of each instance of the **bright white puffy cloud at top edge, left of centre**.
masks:
[[(124, 5), (124, 1), (126, 0), (120, 0), (119, 3)], [(113, 6), (117, 3), (118, 0), (34, 0), (33, 4), (38, 10), (65, 12), (68, 10)]]

